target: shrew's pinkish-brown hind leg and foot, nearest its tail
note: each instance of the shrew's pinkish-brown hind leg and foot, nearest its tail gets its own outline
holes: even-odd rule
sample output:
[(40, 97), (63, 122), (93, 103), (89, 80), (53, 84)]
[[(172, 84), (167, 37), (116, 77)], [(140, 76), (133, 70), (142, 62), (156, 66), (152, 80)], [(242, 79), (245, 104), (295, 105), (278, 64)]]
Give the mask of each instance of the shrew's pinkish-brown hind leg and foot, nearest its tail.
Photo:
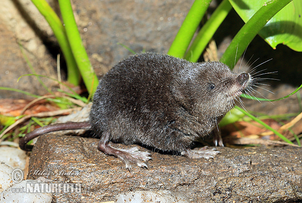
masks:
[(104, 152), (107, 155), (113, 155), (119, 159), (121, 159), (125, 165), (126, 168), (129, 170), (131, 169), (131, 162), (135, 163), (139, 167), (145, 167), (148, 168), (148, 166), (144, 163), (144, 161), (148, 161), (152, 159), (150, 157), (150, 153), (139, 151), (138, 147), (132, 147), (130, 149), (117, 149), (109, 145), (109, 133), (104, 132), (99, 144), (98, 149), (102, 152)]

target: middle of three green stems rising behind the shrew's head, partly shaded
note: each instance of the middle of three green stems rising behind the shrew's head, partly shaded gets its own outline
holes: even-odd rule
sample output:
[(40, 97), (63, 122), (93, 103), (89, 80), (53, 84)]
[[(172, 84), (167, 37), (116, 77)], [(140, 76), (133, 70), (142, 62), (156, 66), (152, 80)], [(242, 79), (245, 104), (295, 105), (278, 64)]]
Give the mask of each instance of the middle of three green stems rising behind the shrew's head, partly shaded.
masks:
[(186, 60), (196, 62), (199, 59), (204, 48), (209, 43), (214, 33), (232, 8), (233, 7), (230, 4), (229, 0), (223, 0), (220, 3), (220, 5), (201, 28), (195, 40), (193, 41), (191, 47), (185, 55)]

